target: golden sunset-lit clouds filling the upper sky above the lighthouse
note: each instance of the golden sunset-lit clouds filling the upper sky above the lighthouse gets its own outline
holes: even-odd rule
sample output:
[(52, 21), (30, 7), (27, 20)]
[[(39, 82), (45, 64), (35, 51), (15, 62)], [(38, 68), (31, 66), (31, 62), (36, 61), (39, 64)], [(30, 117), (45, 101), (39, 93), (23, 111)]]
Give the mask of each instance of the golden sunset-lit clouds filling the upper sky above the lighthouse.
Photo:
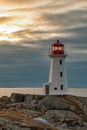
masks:
[(27, 41), (75, 37), (69, 30), (87, 25), (86, 7), (85, 0), (0, 0), (0, 42), (28, 47)]

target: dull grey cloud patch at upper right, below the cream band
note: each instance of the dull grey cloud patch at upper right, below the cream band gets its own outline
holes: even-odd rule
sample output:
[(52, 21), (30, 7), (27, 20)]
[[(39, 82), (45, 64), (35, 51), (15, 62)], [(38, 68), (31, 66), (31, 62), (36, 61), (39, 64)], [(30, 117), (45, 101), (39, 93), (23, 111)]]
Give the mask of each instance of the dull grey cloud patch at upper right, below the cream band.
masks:
[(67, 29), (69, 27), (78, 27), (87, 25), (87, 10), (74, 10), (68, 13), (51, 14), (46, 13), (44, 17), (50, 21), (51, 25), (61, 26), (61, 28)]

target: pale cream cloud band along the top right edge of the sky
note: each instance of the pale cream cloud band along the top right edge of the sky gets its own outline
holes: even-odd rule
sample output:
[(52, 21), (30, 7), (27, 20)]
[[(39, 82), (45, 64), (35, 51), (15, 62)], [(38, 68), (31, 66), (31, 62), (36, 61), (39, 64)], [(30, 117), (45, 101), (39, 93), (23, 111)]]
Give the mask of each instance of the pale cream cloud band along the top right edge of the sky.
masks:
[(42, 12), (44, 13), (51, 13), (51, 14), (61, 14), (61, 13), (68, 13), (69, 11), (73, 10), (84, 10), (87, 8), (87, 4), (85, 0), (52, 0), (49, 4), (42, 6)]

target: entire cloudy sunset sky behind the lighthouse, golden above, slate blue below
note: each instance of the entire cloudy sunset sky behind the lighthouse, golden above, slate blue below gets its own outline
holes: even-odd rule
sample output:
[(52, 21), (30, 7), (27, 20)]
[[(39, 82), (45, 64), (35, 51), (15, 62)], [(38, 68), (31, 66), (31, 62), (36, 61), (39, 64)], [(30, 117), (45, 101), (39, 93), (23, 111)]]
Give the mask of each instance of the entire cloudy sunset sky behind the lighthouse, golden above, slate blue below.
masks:
[(87, 88), (87, 0), (0, 0), (0, 87), (48, 82), (57, 39), (68, 54), (68, 86)]

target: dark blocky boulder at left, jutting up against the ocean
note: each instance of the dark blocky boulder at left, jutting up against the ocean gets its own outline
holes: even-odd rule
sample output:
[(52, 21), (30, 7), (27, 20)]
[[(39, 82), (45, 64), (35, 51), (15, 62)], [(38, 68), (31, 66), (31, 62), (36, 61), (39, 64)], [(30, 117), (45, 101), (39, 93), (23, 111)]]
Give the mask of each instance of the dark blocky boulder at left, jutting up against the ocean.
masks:
[(10, 97), (11, 102), (23, 102), (24, 101), (24, 94), (20, 93), (12, 93)]

